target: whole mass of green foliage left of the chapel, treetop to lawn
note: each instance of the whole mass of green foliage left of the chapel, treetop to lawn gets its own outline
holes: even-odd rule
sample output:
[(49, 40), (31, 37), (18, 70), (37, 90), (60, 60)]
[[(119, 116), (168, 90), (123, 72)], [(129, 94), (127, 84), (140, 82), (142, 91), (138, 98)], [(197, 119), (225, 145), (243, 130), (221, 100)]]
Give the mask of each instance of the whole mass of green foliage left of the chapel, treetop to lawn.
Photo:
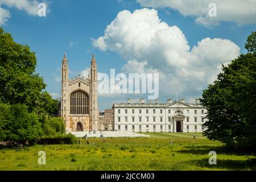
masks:
[(35, 52), (0, 28), (0, 140), (35, 139), (52, 126), (47, 118), (57, 114), (58, 101), (46, 92), (35, 68)]

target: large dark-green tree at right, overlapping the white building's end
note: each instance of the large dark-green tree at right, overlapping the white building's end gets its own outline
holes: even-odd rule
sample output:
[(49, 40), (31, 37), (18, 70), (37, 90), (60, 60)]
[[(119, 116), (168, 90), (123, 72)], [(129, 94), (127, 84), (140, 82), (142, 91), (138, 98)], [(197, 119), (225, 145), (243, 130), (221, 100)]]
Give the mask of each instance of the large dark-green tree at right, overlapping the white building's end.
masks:
[(208, 121), (203, 134), (226, 144), (256, 150), (256, 46), (255, 32), (247, 39), (248, 53), (242, 54), (204, 90), (201, 103)]

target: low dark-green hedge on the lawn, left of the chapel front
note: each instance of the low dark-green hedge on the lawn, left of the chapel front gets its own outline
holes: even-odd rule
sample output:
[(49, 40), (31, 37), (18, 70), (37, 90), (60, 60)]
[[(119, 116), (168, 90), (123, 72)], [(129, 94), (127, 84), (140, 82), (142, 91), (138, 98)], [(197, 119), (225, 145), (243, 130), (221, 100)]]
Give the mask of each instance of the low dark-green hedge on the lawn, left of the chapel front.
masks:
[(71, 133), (67, 135), (48, 136), (41, 138), (37, 144), (77, 144), (77, 138)]

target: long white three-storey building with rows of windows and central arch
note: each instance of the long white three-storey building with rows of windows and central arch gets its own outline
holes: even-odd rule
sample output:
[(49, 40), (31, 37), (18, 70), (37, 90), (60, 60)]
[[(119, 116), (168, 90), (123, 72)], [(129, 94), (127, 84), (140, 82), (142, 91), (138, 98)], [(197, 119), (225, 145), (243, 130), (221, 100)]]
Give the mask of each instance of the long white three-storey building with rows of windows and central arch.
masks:
[(185, 100), (167, 103), (127, 103), (113, 105), (115, 131), (134, 132), (201, 132), (207, 110), (197, 99), (195, 104)]

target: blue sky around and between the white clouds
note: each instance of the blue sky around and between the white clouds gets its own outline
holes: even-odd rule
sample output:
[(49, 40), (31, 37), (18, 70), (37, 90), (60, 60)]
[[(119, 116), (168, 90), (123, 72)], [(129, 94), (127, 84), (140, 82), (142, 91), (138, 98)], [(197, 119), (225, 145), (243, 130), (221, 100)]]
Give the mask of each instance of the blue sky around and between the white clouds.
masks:
[[(178, 33), (182, 32), (184, 34), (190, 47), (189, 51), (191, 51), (193, 46), (198, 46), (198, 42), (205, 38), (219, 38), (230, 40), (232, 45), (236, 44), (236, 46), (241, 48), (240, 53), (246, 53), (244, 45), (247, 36), (250, 35), (251, 31), (255, 31), (256, 29), (255, 22), (241, 24), (241, 22), (235, 22), (234, 20), (218, 20), (217, 25), (209, 28), (203, 24), (196, 23), (195, 18), (199, 15), (195, 13), (184, 15), (184, 12), (179, 10), (179, 7), (172, 9), (172, 5), (168, 4), (147, 5), (145, 3), (139, 3), (139, 1), (120, 0), (55, 0), (47, 1), (49, 11), (47, 11), (46, 17), (39, 17), (27, 13), (26, 9), (19, 9), (15, 5), (8, 5), (4, 2), (1, 3), (1, 1), (1, 8), (8, 10), (10, 14), (10, 18), (1, 27), (6, 32), (11, 33), (15, 42), (28, 44), (31, 50), (36, 52), (38, 59), (36, 72), (44, 77), (44, 81), (47, 84), (47, 91), (54, 93), (55, 97), (58, 97), (56, 94), (60, 95), (60, 67), (64, 52), (67, 53), (69, 70), (71, 71), (69, 78), (79, 75), (82, 70), (90, 66), (92, 53), (96, 55), (98, 71), (101, 73), (109, 73), (110, 68), (115, 68), (116, 72), (122, 72), (122, 67), (127, 64), (128, 60), (136, 59), (136, 63), (138, 64), (146, 60), (146, 57), (143, 57), (143, 60), (138, 60), (138, 57), (133, 57), (132, 53), (129, 54), (129, 52), (127, 52), (129, 54), (128, 57), (124, 56), (126, 53), (118, 52), (118, 50), (112, 48), (102, 51), (100, 46), (93, 44), (93, 39), (97, 41), (98, 38), (104, 36), (106, 27), (123, 10), (129, 10), (132, 14), (134, 10), (141, 10), (143, 8), (150, 10), (154, 8), (158, 12), (157, 16), (162, 22), (167, 23), (170, 27), (177, 26), (179, 28)], [(193, 9), (193, 7), (190, 8)], [(253, 15), (249, 14), (248, 16)], [(107, 46), (110, 47), (114, 39), (117, 38), (106, 40)], [(229, 44), (225, 45), (228, 46)], [(229, 49), (227, 51), (232, 52)], [(236, 57), (237, 53), (234, 53), (233, 56)], [(146, 67), (154, 69), (154, 64), (150, 64), (150, 59), (147, 61)], [(177, 60), (177, 63), (179, 63), (179, 60)], [(212, 63), (212, 65), (216, 66), (215, 63)], [(157, 69), (161, 71), (162, 68), (159, 67)], [(208, 67), (202, 67), (201, 69), (208, 69)], [(169, 73), (167, 72), (161, 71), (160, 74), (168, 75)], [(170, 69), (170, 74), (171, 72), (172, 69)], [(176, 76), (174, 77), (176, 78)], [(193, 77), (193, 75), (189, 77)], [(183, 81), (185, 85), (189, 86), (184, 86), (181, 90), (177, 88), (176, 91), (179, 98), (184, 97), (187, 101), (192, 101), (194, 98), (200, 97), (202, 90), (207, 88), (208, 84), (207, 81), (201, 80), (199, 83), (195, 81), (195, 87), (197, 88), (190, 89), (194, 85), (193, 80), (188, 80), (188, 78), (178, 79), (178, 82)], [(160, 88), (164, 87), (161, 82), (159, 84)], [(200, 88), (198, 88), (198, 84), (201, 84)], [(169, 93), (168, 87), (164, 90), (167, 90), (167, 92), (160, 91), (160, 101), (165, 102), (167, 98), (176, 98), (175, 89), (170, 89)], [(144, 96), (141, 94), (99, 96), (100, 110), (111, 107), (114, 102), (125, 101), (127, 97), (138, 99)]]

